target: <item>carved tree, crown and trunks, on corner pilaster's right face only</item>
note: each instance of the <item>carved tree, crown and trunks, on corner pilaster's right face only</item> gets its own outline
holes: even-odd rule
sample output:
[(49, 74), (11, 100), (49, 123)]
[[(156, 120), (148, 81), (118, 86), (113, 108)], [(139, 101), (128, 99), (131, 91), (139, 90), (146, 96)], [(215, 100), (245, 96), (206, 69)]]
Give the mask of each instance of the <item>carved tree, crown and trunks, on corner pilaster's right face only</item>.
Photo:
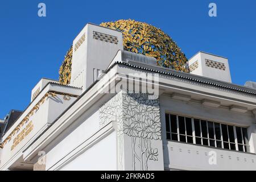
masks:
[(123, 133), (131, 137), (133, 169), (148, 169), (148, 160), (158, 160), (158, 148), (152, 140), (161, 139), (159, 100), (148, 94), (123, 94)]

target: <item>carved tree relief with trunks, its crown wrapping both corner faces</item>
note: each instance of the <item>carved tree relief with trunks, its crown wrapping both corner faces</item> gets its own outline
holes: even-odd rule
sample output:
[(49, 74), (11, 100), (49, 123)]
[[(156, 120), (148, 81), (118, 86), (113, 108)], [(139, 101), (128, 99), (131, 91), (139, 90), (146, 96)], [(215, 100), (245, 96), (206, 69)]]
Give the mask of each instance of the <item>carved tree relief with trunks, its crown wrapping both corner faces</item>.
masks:
[(117, 121), (118, 135), (131, 138), (133, 169), (147, 170), (149, 160), (158, 160), (152, 141), (161, 139), (159, 100), (148, 100), (143, 93), (121, 93), (101, 107), (100, 122)]

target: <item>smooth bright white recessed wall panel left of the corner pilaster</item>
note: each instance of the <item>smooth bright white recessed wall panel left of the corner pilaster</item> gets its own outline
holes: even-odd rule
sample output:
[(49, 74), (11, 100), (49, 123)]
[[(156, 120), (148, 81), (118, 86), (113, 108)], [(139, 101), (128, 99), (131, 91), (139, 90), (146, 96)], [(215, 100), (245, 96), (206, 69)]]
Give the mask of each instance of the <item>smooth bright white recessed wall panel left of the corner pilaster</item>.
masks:
[(70, 163), (66, 164), (61, 171), (75, 170), (117, 170), (117, 147), (116, 133), (110, 135), (94, 144)]

